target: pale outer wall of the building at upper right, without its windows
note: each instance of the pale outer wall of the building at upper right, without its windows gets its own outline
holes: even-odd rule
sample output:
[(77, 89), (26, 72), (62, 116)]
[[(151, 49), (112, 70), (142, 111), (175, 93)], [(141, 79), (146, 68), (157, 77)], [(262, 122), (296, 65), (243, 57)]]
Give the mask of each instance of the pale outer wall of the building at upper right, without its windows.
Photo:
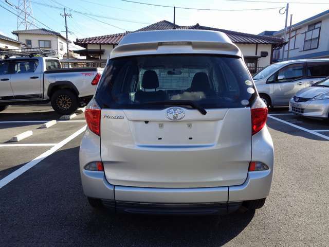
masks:
[[(303, 50), (305, 32), (307, 31), (308, 25), (317, 23), (319, 21), (321, 21), (319, 47), (317, 49), (312, 49), (312, 50)], [(318, 52), (329, 51), (329, 15), (322, 16), (320, 19), (315, 19), (312, 22), (305, 23), (296, 28), (300, 28), (297, 30), (296, 45), (295, 45), (296, 48), (293, 49), (293, 47), (290, 47), (289, 59), (294, 59), (294, 58), (298, 59), (300, 58), (300, 56), (305, 56), (305, 55), (308, 55), (307, 58), (317, 58), (319, 57), (319, 55), (317, 55)], [(284, 33), (277, 35), (276, 37), (283, 38)], [(288, 40), (288, 38), (289, 38), (289, 33), (287, 33), (286, 40)], [(285, 52), (284, 52), (285, 59), (287, 59), (287, 55), (288, 55), (287, 50), (288, 50), (288, 45), (285, 46)], [(329, 54), (320, 57), (329, 57)], [(282, 58), (282, 49), (280, 52), (280, 59), (281, 58)]]

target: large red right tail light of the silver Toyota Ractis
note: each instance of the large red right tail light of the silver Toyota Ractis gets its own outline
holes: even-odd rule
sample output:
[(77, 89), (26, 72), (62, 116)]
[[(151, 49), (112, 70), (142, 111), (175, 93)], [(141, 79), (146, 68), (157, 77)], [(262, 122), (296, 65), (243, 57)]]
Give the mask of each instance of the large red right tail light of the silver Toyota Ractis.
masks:
[(251, 135), (261, 131), (267, 120), (268, 109), (264, 101), (257, 97), (251, 107)]

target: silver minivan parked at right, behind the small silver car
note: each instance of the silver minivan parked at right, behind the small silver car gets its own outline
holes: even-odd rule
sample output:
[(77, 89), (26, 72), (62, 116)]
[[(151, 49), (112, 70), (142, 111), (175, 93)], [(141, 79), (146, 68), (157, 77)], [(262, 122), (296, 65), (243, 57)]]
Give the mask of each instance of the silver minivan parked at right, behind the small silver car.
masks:
[(329, 59), (289, 60), (265, 67), (253, 76), (258, 93), (269, 107), (288, 106), (299, 90), (329, 76)]

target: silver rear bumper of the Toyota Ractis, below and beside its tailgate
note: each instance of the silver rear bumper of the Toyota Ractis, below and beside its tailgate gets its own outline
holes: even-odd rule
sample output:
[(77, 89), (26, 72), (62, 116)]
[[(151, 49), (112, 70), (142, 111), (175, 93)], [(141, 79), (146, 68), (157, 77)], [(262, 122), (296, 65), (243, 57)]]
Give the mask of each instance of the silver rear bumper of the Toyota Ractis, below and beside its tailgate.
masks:
[(252, 137), (252, 160), (269, 166), (266, 171), (248, 172), (243, 184), (206, 188), (148, 188), (110, 184), (104, 172), (86, 171), (84, 166), (100, 159), (100, 137), (86, 131), (80, 145), (80, 171), (84, 193), (106, 200), (148, 203), (210, 203), (266, 198), (273, 177), (273, 143), (265, 127)]

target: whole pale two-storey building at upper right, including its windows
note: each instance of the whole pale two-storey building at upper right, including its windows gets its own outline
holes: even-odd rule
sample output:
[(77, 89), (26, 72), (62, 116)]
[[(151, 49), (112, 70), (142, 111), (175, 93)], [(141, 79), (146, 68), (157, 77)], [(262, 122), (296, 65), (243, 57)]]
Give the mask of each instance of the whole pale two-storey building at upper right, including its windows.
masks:
[[(273, 37), (284, 38), (285, 30), (273, 32)], [(287, 29), (286, 41), (289, 38)], [(274, 60), (282, 60), (282, 49)], [(279, 57), (280, 56), (280, 57)], [(288, 57), (288, 44), (284, 46), (284, 60)], [(289, 60), (329, 58), (329, 10), (309, 17), (291, 26)]]

